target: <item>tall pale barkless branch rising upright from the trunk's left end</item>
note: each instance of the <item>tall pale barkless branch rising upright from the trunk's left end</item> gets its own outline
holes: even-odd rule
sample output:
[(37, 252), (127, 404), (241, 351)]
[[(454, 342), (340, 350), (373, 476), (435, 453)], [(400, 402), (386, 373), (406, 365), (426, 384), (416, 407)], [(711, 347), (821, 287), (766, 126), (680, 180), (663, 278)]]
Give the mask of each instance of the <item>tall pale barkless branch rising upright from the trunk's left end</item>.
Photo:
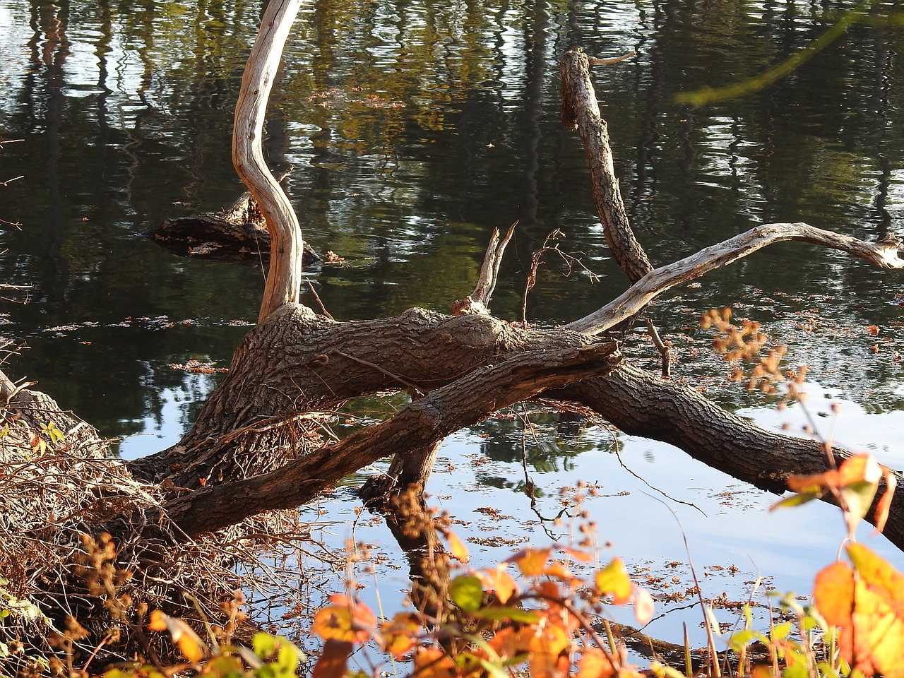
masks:
[(232, 164), (258, 201), (270, 233), (270, 265), (258, 322), (283, 304), (298, 302), (301, 285), (301, 227), (295, 210), (270, 173), (261, 147), (264, 114), (283, 46), (302, 0), (269, 2), (260, 20), (258, 39), (251, 48), (241, 79), (232, 132)]

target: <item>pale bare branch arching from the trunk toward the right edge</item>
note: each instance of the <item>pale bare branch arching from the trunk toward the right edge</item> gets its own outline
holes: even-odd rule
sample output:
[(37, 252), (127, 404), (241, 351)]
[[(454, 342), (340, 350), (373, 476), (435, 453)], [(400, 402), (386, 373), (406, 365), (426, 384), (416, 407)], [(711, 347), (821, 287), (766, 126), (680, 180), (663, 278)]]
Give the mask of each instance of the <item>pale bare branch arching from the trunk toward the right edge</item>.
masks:
[(802, 222), (767, 223), (717, 245), (711, 245), (690, 257), (650, 271), (620, 297), (598, 311), (565, 325), (564, 329), (585, 334), (605, 332), (613, 325), (638, 313), (665, 290), (700, 278), (711, 270), (727, 266), (767, 245), (783, 240), (802, 240), (833, 250), (842, 250), (880, 268), (904, 268), (904, 259), (898, 256), (901, 242), (897, 238), (865, 242), (841, 233), (817, 229)]

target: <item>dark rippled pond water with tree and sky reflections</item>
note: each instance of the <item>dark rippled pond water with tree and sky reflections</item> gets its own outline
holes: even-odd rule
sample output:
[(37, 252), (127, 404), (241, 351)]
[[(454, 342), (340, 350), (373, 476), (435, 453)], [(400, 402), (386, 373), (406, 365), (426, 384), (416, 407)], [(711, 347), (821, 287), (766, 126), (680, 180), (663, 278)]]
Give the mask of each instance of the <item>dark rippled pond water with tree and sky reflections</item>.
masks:
[[(769, 221), (879, 239), (904, 213), (894, 3), (876, 2), (870, 21), (767, 89), (702, 109), (673, 99), (764, 71), (853, 5), (312, 0), (267, 125), (271, 164), (294, 166), (287, 192), (306, 240), (344, 258), (306, 275), (339, 320), (447, 310), (473, 288), (490, 231), (517, 220), (494, 313), (520, 317), (531, 253), (554, 229), (600, 278), (566, 276), (549, 260), (529, 298), (532, 322), (565, 322), (620, 293), (626, 280), (607, 254), (583, 149), (559, 122), (558, 58), (571, 46), (637, 52), (596, 83), (626, 206), (655, 264)], [(0, 219), (12, 222), (0, 232), (0, 265), (6, 282), (31, 286), (27, 305), (3, 308), (5, 337), (27, 345), (5, 369), (118, 438), (127, 457), (173, 443), (212, 390), (215, 376), (173, 365), (228, 365), (257, 316), (259, 267), (180, 259), (139, 234), (226, 207), (242, 190), (232, 108), (260, 12), (238, 0), (0, 0)], [(680, 353), (676, 379), (766, 426), (801, 416), (726, 385), (728, 368), (708, 355), (697, 323), (733, 305), (790, 347), (789, 367), (812, 368), (817, 420), (829, 424), (826, 403), (842, 403), (837, 439), (904, 466), (899, 272), (782, 244), (701, 282), (652, 309)], [(631, 343), (650, 355), (642, 335)], [(843, 523), (828, 507), (767, 513), (774, 497), (673, 447), (604, 426), (564, 435), (548, 414), (531, 418), (537, 435), (503, 417), (440, 453), (428, 490), (463, 521), (478, 564), (567, 538), (545, 519), (560, 511), (560, 487), (579, 479), (598, 485), (586, 508), (600, 541), (641, 579), (687, 582), (686, 564), (670, 566), (688, 561), (670, 513), (710, 596), (744, 598), (757, 574), (806, 592), (834, 558)], [(358, 505), (338, 492), (302, 513), (341, 546)], [(487, 533), (508, 541), (479, 539)], [(394, 541), (370, 519), (354, 534), (385, 557), (381, 597), (392, 609), (407, 586)], [(901, 566), (898, 551), (869, 543)], [(690, 601), (660, 611), (650, 633), (674, 642), (682, 621), (702, 619)]]

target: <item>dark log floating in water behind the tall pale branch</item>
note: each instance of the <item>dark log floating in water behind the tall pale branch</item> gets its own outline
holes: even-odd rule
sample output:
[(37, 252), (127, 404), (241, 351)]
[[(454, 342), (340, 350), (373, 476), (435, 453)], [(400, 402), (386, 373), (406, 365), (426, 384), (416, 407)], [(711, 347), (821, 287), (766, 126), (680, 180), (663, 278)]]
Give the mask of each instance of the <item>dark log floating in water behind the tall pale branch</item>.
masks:
[[(267, 224), (249, 191), (226, 210), (167, 219), (142, 235), (180, 257), (250, 264), (268, 264), (270, 259)], [(320, 260), (307, 242), (303, 246), (303, 266)]]

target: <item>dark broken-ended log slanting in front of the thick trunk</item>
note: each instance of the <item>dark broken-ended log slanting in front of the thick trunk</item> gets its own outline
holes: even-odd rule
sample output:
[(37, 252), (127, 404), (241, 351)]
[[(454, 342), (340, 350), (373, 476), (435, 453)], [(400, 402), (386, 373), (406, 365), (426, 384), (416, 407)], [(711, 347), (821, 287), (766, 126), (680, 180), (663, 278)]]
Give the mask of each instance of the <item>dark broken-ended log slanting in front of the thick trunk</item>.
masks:
[[(206, 485), (166, 505), (188, 534), (212, 532), (269, 509), (313, 499), (353, 471), (397, 450), (435, 445), (496, 410), (550, 388), (607, 374), (621, 360), (617, 344), (520, 353), (441, 386), (380, 424), (322, 447), (278, 470), (225, 485)], [(242, 497), (237, 503), (235, 497)]]

